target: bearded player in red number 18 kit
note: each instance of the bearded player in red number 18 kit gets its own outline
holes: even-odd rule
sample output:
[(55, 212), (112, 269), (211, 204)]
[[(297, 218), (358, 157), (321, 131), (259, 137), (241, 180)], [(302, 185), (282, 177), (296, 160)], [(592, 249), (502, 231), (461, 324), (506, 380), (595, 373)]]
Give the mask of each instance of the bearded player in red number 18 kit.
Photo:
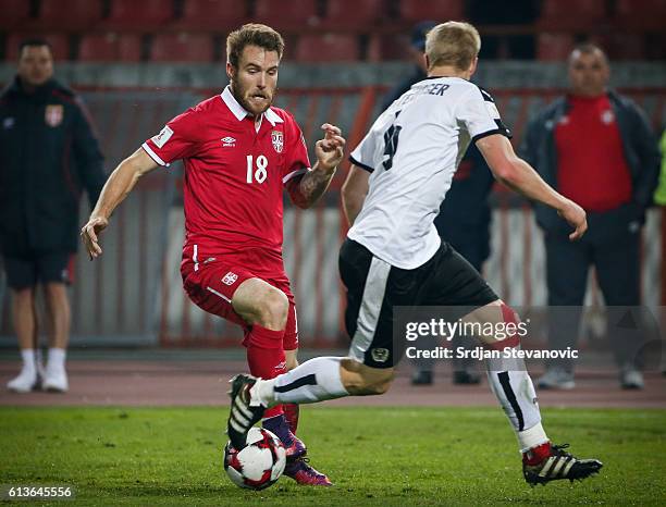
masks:
[[(263, 379), (298, 364), (296, 307), (282, 260), (282, 189), (299, 208), (312, 206), (345, 145), (338, 127), (323, 124), (310, 168), (294, 118), (271, 107), (283, 50), (280, 34), (266, 25), (230, 34), (230, 86), (171, 120), (121, 162), (82, 228), (90, 258), (99, 257), (99, 234), (136, 182), (183, 160), (185, 290), (206, 311), (244, 329), (250, 372)], [(301, 484), (330, 485), (304, 459), (306, 447), (294, 435), (297, 420), (297, 406), (274, 407), (263, 419), (287, 448), (285, 474)]]

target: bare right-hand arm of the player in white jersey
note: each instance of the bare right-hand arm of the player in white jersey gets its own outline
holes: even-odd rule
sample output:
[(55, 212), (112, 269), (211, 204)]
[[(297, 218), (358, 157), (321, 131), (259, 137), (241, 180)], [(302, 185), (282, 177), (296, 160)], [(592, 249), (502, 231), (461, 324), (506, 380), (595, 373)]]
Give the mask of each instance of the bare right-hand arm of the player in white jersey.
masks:
[(559, 215), (575, 227), (569, 239), (580, 239), (588, 230), (584, 210), (545, 183), (529, 163), (516, 154), (505, 136), (485, 136), (478, 139), (476, 145), (497, 181), (529, 199), (556, 209)]

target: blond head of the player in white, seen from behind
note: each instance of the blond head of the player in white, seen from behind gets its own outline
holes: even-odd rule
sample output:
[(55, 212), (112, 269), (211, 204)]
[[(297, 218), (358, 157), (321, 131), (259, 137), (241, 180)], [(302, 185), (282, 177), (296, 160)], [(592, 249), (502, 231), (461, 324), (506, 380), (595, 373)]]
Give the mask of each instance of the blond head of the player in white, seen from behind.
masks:
[(469, 23), (448, 21), (425, 36), (425, 54), (431, 67), (453, 65), (467, 71), (481, 50), (481, 36)]

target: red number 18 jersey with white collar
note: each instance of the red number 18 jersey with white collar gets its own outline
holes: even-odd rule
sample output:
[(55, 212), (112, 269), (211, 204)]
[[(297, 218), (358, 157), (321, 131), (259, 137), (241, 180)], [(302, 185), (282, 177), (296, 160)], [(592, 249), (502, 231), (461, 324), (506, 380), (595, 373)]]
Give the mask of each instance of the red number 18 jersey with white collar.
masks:
[(231, 89), (171, 120), (143, 148), (185, 164), (185, 244), (201, 261), (259, 249), (282, 263), (282, 188), (310, 168), (294, 118), (270, 108), (257, 122)]

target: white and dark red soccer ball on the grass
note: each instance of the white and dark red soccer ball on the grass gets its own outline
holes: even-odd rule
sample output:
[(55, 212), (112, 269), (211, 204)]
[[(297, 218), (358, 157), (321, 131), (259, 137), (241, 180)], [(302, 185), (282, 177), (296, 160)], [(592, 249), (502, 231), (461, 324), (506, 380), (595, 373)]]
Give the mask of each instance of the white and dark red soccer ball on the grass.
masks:
[(224, 470), (234, 484), (248, 490), (264, 490), (274, 484), (286, 465), (286, 452), (278, 436), (263, 428), (252, 428), (247, 446), (236, 450), (224, 447)]

